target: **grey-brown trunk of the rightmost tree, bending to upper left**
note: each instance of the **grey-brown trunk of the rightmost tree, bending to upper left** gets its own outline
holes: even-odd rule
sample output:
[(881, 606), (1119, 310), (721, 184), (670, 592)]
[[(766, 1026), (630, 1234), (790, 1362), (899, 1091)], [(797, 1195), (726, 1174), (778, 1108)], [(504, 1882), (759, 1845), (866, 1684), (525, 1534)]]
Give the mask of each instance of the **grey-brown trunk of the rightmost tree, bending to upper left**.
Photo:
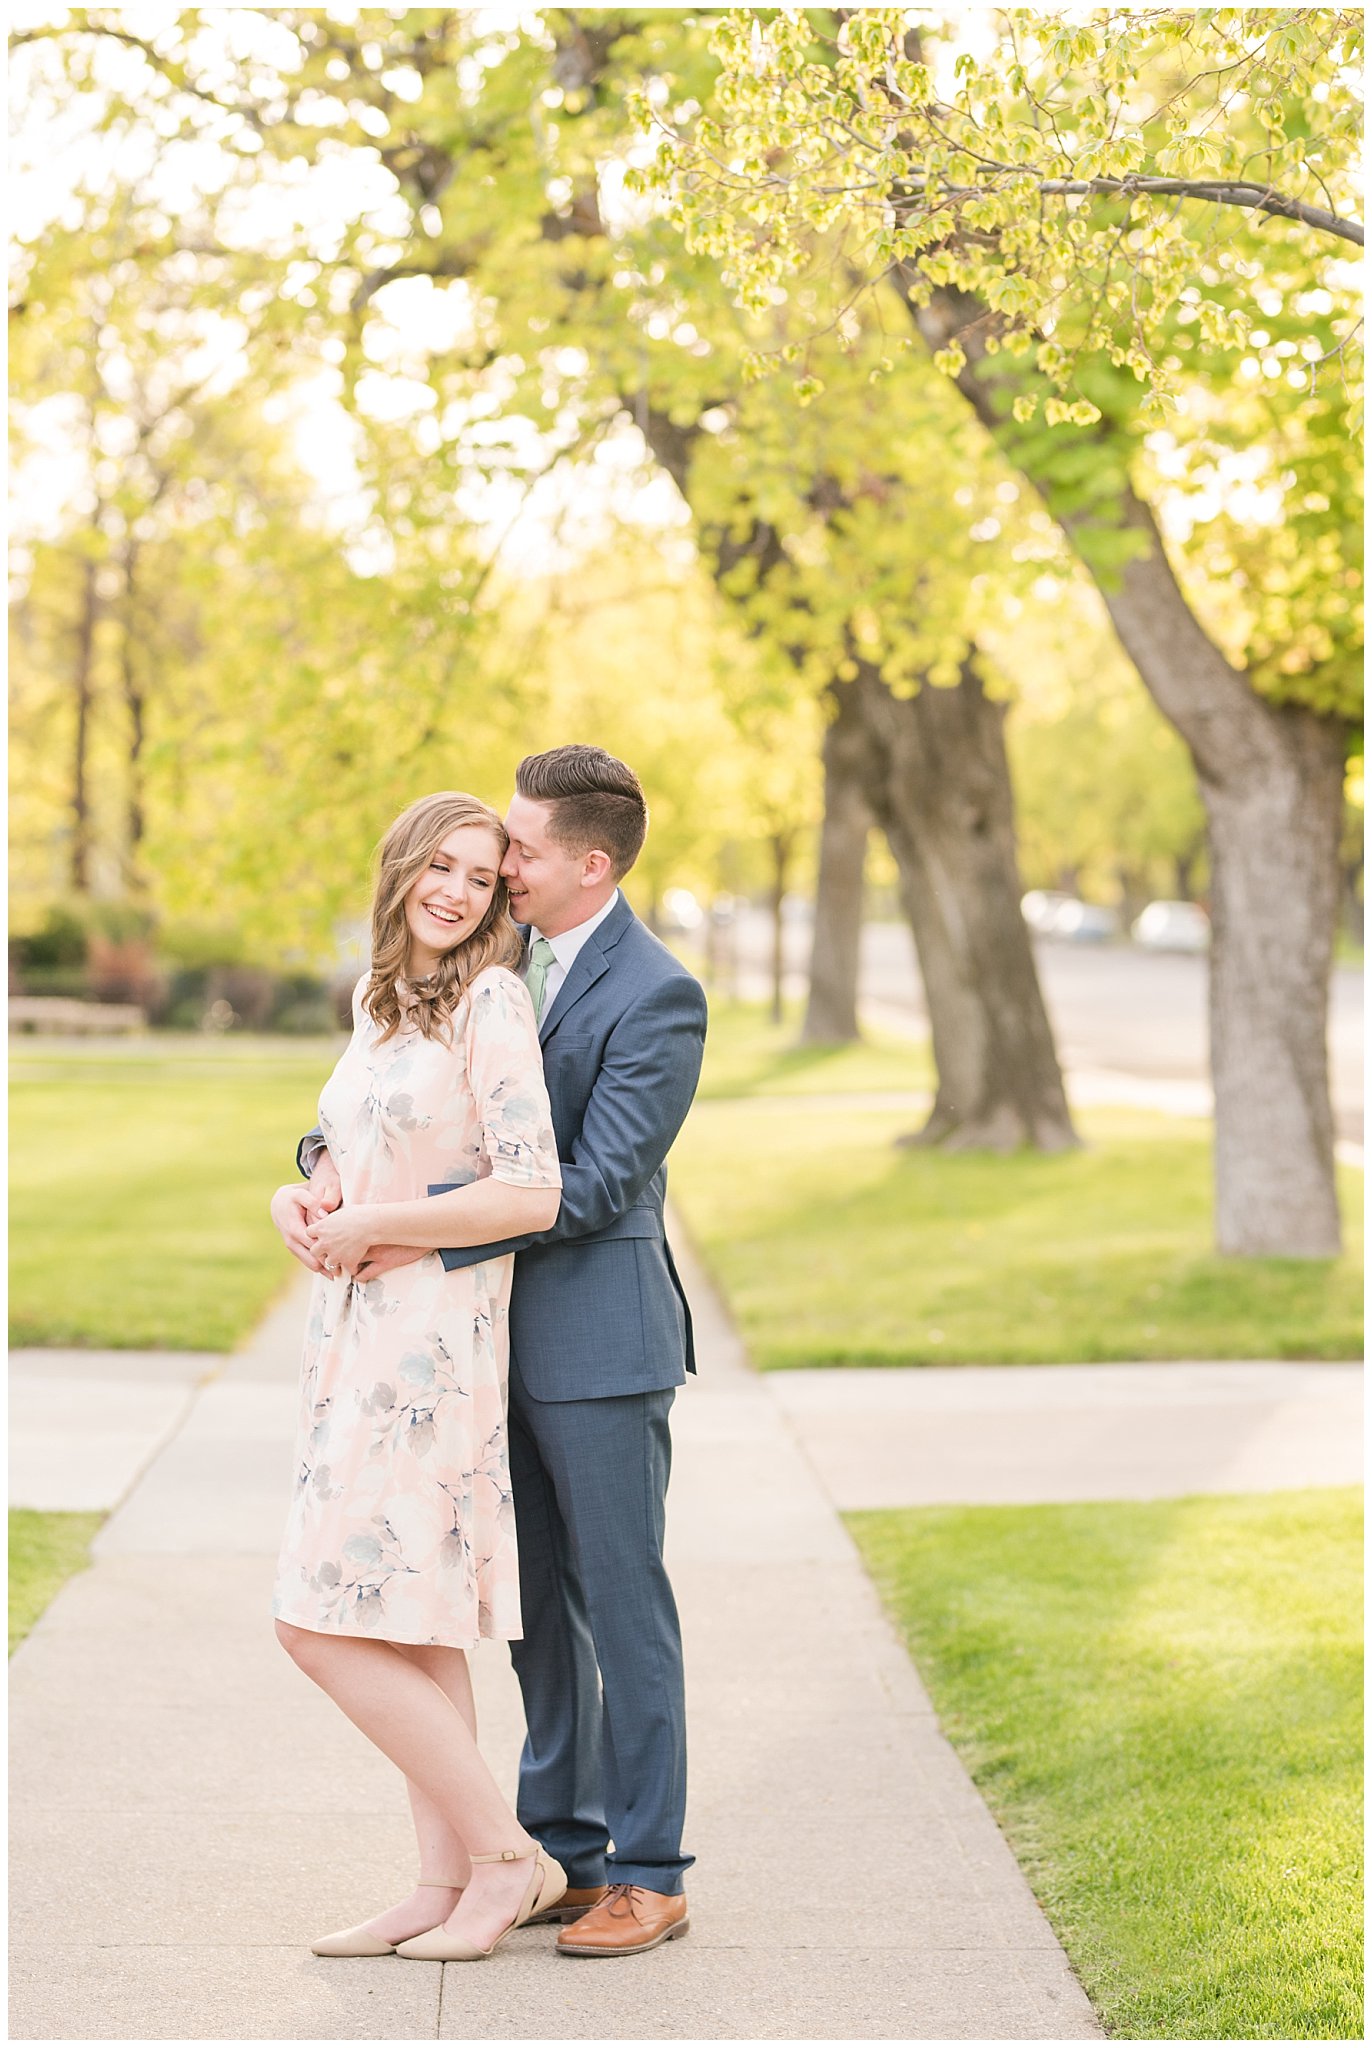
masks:
[[(909, 301), (907, 301), (909, 303)], [(1343, 725), (1253, 690), (1210, 641), (1171, 573), (1151, 508), (1124, 477), (1114, 502), (1063, 502), (1038, 442), (1007, 422), (1005, 356), (989, 358), (995, 319), (967, 293), (909, 305), (926, 342), (954, 334), (958, 387), (1077, 545), (1120, 645), (1196, 764), (1210, 825), (1210, 1065), (1214, 1219), (1220, 1251), (1333, 1257), (1339, 1210), (1329, 1106), (1329, 969), (1343, 813)], [(1063, 430), (1065, 432), (1065, 430)], [(1110, 434), (1096, 430), (1098, 438)], [(1028, 453), (1026, 453), (1028, 451)], [(1137, 541), (1128, 561), (1096, 567), (1091, 528)]]

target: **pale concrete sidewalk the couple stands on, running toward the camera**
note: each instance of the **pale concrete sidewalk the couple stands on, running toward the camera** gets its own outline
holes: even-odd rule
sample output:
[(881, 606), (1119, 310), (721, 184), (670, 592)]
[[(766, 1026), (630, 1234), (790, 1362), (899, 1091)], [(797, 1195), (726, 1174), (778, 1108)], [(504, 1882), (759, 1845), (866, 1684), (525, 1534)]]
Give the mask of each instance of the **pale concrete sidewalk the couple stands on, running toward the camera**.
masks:
[[(293, 1294), (180, 1421), (156, 1417), (174, 1434), (94, 1571), (14, 1657), (10, 2038), (1098, 2038), (770, 1384), (690, 1266), (688, 1286), (702, 1372), (676, 1405), (670, 1499), (688, 1939), (602, 1966), (555, 1956), (549, 1929), (477, 1966), (309, 1954), (408, 1888), (414, 1847), (395, 1772), (268, 1624)], [(512, 1788), (504, 1649), (475, 1675)]]

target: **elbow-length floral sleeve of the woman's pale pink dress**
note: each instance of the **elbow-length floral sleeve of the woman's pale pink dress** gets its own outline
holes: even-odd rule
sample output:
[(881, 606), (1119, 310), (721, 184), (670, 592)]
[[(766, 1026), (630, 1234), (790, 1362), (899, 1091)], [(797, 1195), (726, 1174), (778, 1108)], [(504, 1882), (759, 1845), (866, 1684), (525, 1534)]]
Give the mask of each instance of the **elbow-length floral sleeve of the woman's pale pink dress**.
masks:
[(491, 1178), (510, 1188), (561, 1188), (539, 1024), (518, 975), (494, 969), (467, 1004), (467, 1079)]

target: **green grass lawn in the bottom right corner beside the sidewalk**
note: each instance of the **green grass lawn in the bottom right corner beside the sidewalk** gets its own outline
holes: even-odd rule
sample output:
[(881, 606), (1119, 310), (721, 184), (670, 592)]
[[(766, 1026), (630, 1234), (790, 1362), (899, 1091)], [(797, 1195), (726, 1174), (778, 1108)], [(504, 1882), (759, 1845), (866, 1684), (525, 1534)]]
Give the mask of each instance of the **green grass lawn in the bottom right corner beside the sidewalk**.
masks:
[(1362, 2038), (1360, 1491), (848, 1522), (1108, 2032)]

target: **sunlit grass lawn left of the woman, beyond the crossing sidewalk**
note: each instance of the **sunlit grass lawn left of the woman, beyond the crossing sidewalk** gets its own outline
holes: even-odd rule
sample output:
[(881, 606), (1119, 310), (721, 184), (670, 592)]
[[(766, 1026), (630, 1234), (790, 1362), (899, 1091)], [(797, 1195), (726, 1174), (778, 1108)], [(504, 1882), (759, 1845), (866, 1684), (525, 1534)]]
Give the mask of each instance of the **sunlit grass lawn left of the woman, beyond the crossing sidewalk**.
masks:
[(10, 1040), (10, 1343), (238, 1343), (297, 1270), (266, 1204), (336, 1057)]

